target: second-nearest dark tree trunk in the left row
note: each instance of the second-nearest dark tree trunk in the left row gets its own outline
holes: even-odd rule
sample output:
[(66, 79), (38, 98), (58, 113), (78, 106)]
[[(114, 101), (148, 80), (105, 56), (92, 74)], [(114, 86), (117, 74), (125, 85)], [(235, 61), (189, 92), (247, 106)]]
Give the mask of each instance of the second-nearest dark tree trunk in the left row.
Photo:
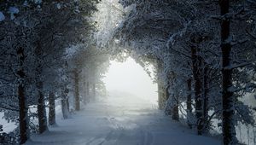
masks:
[(44, 105), (43, 82), (38, 82), (38, 125), (39, 133), (47, 130), (47, 117)]

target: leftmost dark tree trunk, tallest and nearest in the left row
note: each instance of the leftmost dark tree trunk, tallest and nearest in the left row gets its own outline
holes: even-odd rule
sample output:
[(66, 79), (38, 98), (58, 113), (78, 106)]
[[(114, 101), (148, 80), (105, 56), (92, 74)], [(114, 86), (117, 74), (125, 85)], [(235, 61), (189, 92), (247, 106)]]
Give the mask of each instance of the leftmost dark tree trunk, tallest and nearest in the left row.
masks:
[(25, 96), (25, 73), (24, 73), (24, 49), (20, 48), (17, 50), (17, 55), (20, 57), (20, 70), (17, 72), (17, 74), (20, 77), (20, 84), (18, 86), (18, 97), (19, 97), (19, 123), (20, 123), (20, 144), (24, 144), (29, 136), (28, 132), (28, 117), (27, 117), (27, 104), (26, 104), (26, 96)]

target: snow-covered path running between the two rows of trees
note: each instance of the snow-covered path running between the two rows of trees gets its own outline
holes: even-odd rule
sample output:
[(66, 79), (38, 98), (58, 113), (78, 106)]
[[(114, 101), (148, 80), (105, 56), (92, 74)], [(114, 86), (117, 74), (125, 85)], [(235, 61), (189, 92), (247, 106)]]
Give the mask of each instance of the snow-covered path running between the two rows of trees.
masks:
[(218, 145), (218, 140), (196, 136), (164, 116), (152, 104), (137, 100), (118, 104), (111, 98), (91, 103), (72, 119), (32, 136), (26, 145)]

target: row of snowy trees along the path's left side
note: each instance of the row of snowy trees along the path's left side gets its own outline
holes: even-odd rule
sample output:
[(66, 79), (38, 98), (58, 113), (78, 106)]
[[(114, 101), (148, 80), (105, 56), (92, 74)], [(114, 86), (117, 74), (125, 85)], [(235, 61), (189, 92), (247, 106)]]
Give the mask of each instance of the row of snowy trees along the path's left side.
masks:
[[(33, 128), (32, 117), (38, 118), (35, 130), (39, 133), (48, 130), (47, 119), (49, 125), (54, 125), (56, 99), (61, 99), (63, 118), (68, 118), (72, 90), (75, 109), (79, 110), (79, 84), (87, 88), (86, 102), (96, 94), (96, 88), (101, 88), (100, 72), (108, 67), (108, 55), (102, 57), (92, 41), (96, 28), (90, 18), (97, 3), (98, 0), (0, 3), (0, 109), (5, 119), (19, 125), (17, 134), (10, 136), (15, 139), (6, 143), (25, 143)], [(31, 113), (30, 107), (37, 107), (37, 113)]]

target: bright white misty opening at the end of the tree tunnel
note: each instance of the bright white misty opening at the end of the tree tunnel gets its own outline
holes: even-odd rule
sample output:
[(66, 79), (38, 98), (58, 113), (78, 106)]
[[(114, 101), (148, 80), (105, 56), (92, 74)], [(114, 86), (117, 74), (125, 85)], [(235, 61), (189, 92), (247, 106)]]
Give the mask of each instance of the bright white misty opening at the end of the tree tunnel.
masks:
[[(143, 100), (157, 103), (157, 84), (148, 76), (139, 64), (128, 58), (125, 62), (111, 61), (108, 73), (104, 78), (110, 96), (137, 96)], [(136, 102), (136, 101), (135, 101)]]

